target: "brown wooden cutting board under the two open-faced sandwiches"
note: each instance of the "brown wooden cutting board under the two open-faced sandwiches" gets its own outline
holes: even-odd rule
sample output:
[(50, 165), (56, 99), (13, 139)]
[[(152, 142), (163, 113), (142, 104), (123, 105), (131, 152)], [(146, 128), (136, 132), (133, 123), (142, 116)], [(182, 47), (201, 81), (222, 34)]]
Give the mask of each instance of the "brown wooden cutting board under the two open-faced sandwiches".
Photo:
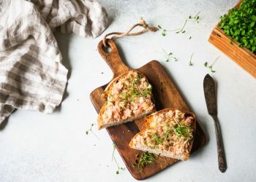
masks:
[[(108, 44), (111, 47), (110, 52), (105, 52), (103, 49), (102, 41), (99, 42), (98, 51), (102, 58), (108, 63), (108, 66), (113, 71), (113, 78), (119, 76), (120, 74), (127, 73), (131, 68), (128, 68), (122, 62), (116, 44), (112, 40), (108, 40)], [(169, 76), (162, 68), (161, 64), (157, 60), (152, 60), (145, 66), (138, 68), (138, 71), (145, 74), (148, 81), (153, 87), (153, 95), (156, 104), (157, 111), (162, 108), (178, 108), (182, 110), (189, 111), (187, 104), (181, 97), (180, 93), (176, 89), (173, 82), (170, 80)], [(98, 87), (96, 90), (91, 92), (91, 102), (94, 104), (97, 112), (99, 113), (100, 108), (106, 100), (103, 100), (101, 95), (105, 90), (105, 84), (102, 87)], [(128, 122), (126, 124), (121, 124), (116, 127), (109, 127), (108, 133), (113, 143), (116, 144), (116, 149), (124, 160), (127, 169), (132, 174), (132, 176), (137, 180), (143, 180), (151, 175), (164, 170), (166, 167), (173, 165), (178, 162), (178, 159), (170, 159), (167, 157), (158, 157), (157, 162), (153, 164), (148, 164), (143, 171), (139, 172), (137, 168), (132, 167), (135, 163), (136, 154), (140, 154), (140, 151), (130, 149), (129, 141), (132, 137), (144, 129), (144, 124), (142, 119), (135, 120), (134, 122)], [(195, 132), (195, 141), (193, 143), (192, 152), (200, 149), (206, 143), (206, 135), (203, 133), (200, 125), (197, 123), (197, 129)]]

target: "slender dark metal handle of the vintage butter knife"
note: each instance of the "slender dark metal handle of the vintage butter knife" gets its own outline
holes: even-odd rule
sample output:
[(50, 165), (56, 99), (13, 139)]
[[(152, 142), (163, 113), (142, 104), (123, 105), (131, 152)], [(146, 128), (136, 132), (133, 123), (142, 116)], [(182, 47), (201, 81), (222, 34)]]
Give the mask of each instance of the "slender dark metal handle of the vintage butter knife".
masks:
[(226, 163), (225, 150), (224, 150), (223, 141), (222, 141), (222, 133), (219, 127), (219, 119), (217, 115), (212, 116), (212, 118), (214, 119), (214, 126), (215, 126), (216, 139), (217, 139), (219, 170), (222, 173), (225, 173), (225, 171), (227, 170), (227, 163)]

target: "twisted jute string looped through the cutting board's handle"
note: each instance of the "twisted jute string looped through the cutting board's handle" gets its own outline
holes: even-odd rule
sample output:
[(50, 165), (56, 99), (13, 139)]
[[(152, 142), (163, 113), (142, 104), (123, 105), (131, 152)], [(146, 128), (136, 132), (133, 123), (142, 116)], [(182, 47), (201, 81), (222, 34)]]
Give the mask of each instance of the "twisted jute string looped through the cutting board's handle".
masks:
[[(135, 27), (137, 26), (140, 26), (140, 27), (143, 27), (143, 30), (141, 31), (138, 31), (138, 32), (131, 32)], [(105, 47), (107, 47), (107, 44), (108, 44), (108, 39), (107, 37), (110, 36), (110, 35), (113, 35), (111, 36), (109, 39), (117, 39), (117, 38), (121, 38), (121, 37), (124, 37), (124, 36), (138, 36), (142, 33), (145, 33), (146, 31), (157, 31), (158, 28), (157, 27), (154, 27), (154, 26), (149, 26), (145, 20), (143, 20), (143, 18), (140, 18), (140, 23), (137, 23), (135, 25), (132, 26), (132, 28), (129, 28), (129, 31), (127, 32), (112, 32), (112, 33), (108, 33), (106, 34), (104, 37), (103, 37), (103, 44)]]

